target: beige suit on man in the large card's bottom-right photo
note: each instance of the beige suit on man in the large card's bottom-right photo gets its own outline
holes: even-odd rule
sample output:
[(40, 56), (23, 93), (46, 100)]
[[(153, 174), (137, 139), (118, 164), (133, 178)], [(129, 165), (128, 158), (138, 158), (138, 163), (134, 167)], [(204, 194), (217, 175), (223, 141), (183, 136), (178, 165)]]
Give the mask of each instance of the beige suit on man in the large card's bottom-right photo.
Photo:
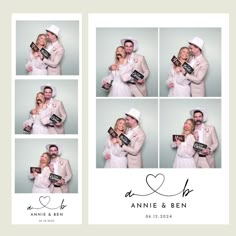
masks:
[(211, 149), (211, 154), (206, 157), (199, 157), (196, 153), (194, 156), (197, 167), (200, 168), (215, 168), (214, 151), (219, 145), (218, 137), (214, 126), (204, 125), (203, 143)]

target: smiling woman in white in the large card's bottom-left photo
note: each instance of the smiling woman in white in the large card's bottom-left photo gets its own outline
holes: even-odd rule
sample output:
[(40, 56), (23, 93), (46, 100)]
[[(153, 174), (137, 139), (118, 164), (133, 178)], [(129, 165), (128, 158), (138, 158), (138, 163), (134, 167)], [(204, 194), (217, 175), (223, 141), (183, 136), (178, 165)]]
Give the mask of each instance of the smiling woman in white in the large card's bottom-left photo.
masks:
[[(115, 132), (118, 136), (126, 132), (125, 119), (119, 118), (116, 121)], [(119, 138), (108, 137), (103, 156), (106, 160), (104, 168), (127, 168), (126, 152), (123, 151), (118, 143)]]

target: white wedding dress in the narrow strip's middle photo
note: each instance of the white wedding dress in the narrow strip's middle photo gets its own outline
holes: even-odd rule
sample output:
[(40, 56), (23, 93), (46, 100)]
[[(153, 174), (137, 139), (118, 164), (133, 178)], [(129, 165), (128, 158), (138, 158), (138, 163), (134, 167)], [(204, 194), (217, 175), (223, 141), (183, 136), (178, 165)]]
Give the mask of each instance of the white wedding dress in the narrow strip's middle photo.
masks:
[(30, 115), (30, 118), (24, 122), (24, 125), (32, 126), (31, 134), (48, 134), (48, 128), (45, 124), (49, 123), (51, 111), (49, 108), (41, 110), (38, 114)]

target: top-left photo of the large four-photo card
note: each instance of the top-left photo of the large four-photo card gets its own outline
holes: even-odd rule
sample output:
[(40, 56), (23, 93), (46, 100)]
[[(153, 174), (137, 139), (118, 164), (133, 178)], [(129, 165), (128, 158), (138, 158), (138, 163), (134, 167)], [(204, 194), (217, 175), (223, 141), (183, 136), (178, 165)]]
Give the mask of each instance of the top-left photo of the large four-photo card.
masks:
[(157, 48), (157, 28), (96, 28), (97, 97), (157, 97)]

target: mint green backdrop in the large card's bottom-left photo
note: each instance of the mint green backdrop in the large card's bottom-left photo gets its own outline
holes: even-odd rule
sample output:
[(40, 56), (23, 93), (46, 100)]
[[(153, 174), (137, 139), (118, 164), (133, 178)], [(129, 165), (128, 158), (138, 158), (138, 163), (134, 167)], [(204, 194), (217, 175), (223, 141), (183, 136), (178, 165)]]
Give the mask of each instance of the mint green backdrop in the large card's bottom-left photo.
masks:
[[(157, 99), (99, 99), (97, 100), (96, 158), (97, 168), (103, 168), (102, 155), (108, 138), (107, 130), (118, 118), (125, 118), (131, 108), (141, 112), (139, 125), (146, 134), (142, 147), (143, 168), (158, 167), (158, 101)], [(104, 170), (105, 171), (105, 170)]]

